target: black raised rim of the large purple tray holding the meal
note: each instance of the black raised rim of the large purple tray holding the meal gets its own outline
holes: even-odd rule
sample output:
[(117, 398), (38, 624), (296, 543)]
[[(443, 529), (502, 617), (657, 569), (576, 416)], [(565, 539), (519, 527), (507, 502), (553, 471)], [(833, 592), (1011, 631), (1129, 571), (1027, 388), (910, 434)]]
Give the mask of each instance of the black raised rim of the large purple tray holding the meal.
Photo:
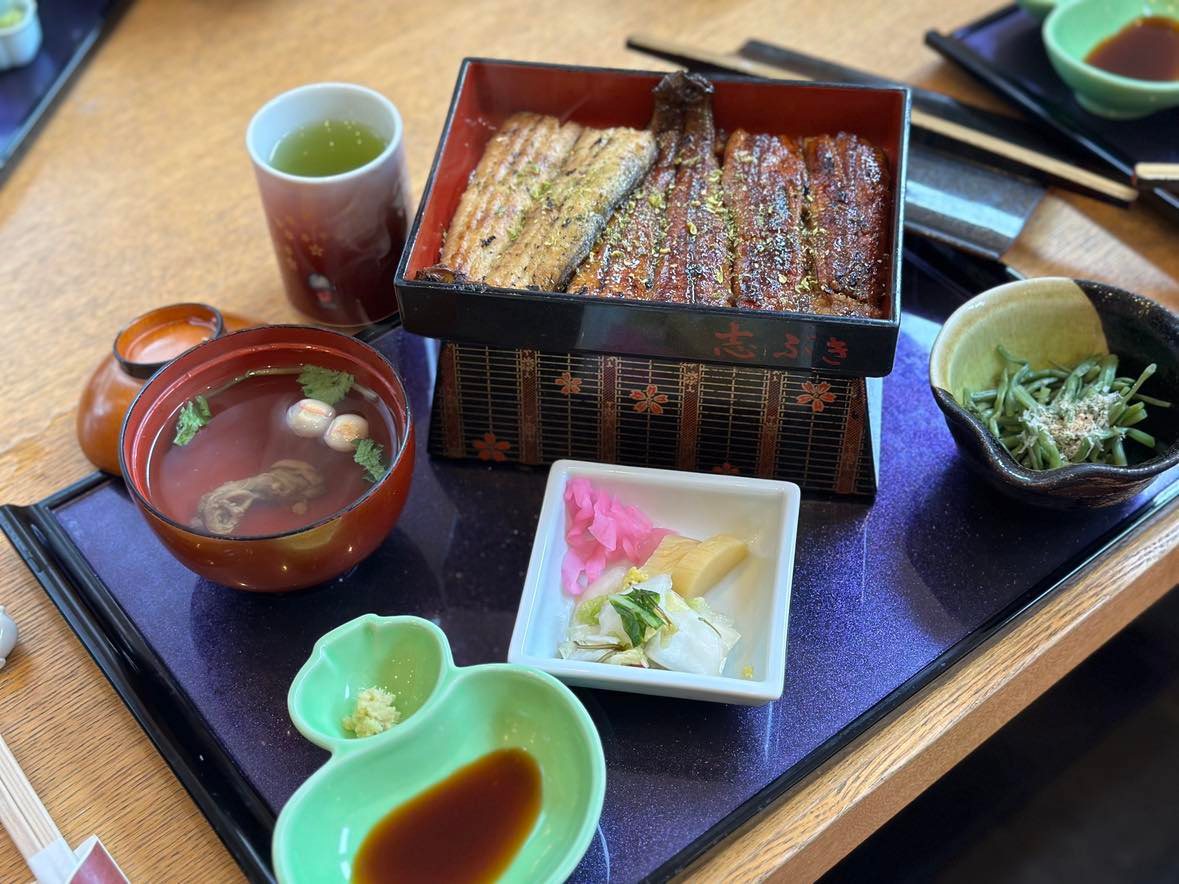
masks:
[[(256, 882), (272, 882), (269, 857), (274, 816), (208, 728), (204, 717), (180, 691), (158, 655), (134, 629), (53, 516), (57, 507), (110, 481), (114, 480), (94, 473), (39, 503), (28, 507), (2, 506), (0, 529), (12, 541), (17, 554), (33, 572), (246, 876)], [(983, 641), (1046, 600), (1112, 546), (1154, 519), (1175, 497), (1179, 497), (1179, 481), (1159, 492), (1128, 521), (1100, 536), (1073, 561), (1058, 568), (931, 660), (838, 734), (792, 765), (783, 777), (755, 793), (745, 804), (674, 855), (646, 880), (672, 878), (720, 842), (739, 833), (758, 813), (782, 799), (836, 753), (895, 712)]]

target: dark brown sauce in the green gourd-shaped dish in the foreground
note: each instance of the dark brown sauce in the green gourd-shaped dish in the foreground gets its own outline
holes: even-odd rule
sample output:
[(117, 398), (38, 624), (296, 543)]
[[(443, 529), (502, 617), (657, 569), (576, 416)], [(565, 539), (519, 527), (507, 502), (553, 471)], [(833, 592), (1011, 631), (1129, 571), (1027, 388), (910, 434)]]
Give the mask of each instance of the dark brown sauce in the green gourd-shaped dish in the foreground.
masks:
[(377, 823), (353, 884), (481, 884), (507, 870), (540, 813), (540, 767), (502, 748), (461, 767)]

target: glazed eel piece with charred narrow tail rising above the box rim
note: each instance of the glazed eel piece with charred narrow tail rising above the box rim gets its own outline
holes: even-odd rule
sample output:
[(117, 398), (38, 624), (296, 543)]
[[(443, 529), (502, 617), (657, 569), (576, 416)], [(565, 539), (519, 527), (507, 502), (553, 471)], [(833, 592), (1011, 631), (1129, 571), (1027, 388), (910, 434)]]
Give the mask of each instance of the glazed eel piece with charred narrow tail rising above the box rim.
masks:
[(650, 298), (656, 264), (664, 245), (667, 191), (676, 180), (676, 151), (684, 127), (684, 104), (698, 88), (683, 71), (654, 88), (651, 131), (656, 161), (634, 193), (606, 224), (601, 239), (578, 268), (569, 291), (598, 297)]

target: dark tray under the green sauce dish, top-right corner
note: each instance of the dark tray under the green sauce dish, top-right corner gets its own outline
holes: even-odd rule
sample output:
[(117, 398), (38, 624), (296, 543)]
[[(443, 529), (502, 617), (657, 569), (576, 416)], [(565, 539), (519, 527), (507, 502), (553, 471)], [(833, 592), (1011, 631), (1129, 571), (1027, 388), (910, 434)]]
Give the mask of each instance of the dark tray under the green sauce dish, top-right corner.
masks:
[[(926, 42), (1075, 147), (1108, 164), (1126, 183), (1133, 183), (1137, 163), (1179, 163), (1179, 108), (1137, 120), (1089, 113), (1052, 68), (1040, 25), (1017, 6), (1005, 6), (949, 34), (929, 31)], [(1144, 189), (1142, 199), (1179, 220), (1179, 193)]]

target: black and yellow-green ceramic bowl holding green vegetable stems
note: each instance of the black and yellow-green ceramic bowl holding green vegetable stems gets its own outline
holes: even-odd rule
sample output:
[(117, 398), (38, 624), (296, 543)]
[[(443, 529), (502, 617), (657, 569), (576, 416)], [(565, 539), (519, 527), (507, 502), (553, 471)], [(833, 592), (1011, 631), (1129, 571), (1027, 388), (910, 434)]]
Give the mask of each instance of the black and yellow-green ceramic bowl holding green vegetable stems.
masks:
[[(1150, 363), (1157, 374), (1144, 392), (1168, 401), (1179, 395), (1179, 317), (1166, 308), (1100, 283), (1065, 277), (1000, 285), (960, 306), (942, 326), (929, 355), (929, 385), (967, 462), (992, 484), (1022, 501), (1058, 508), (1106, 507), (1142, 490), (1179, 463), (1179, 403), (1147, 405), (1140, 428), (1152, 434), (1152, 453), (1129, 444), (1129, 464), (1078, 463), (1060, 469), (1020, 466), (987, 428), (955, 398), (963, 388), (994, 387), (1002, 370), (995, 348), (1045, 368), (1071, 365), (1113, 352), (1118, 374), (1137, 376)], [(1135, 457), (1138, 460), (1135, 460)]]

